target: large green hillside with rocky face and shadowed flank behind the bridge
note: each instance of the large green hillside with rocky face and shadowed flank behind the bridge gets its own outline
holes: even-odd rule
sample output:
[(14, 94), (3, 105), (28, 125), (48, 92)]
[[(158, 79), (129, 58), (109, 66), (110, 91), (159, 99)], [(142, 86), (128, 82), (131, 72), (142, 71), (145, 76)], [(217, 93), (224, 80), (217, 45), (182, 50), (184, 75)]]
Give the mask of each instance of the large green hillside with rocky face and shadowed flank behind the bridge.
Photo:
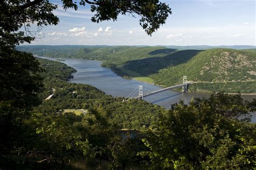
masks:
[[(256, 92), (256, 50), (183, 50), (158, 58), (126, 62), (123, 67), (171, 86), (183, 75), (191, 91)], [(217, 84), (218, 83), (218, 84)]]

